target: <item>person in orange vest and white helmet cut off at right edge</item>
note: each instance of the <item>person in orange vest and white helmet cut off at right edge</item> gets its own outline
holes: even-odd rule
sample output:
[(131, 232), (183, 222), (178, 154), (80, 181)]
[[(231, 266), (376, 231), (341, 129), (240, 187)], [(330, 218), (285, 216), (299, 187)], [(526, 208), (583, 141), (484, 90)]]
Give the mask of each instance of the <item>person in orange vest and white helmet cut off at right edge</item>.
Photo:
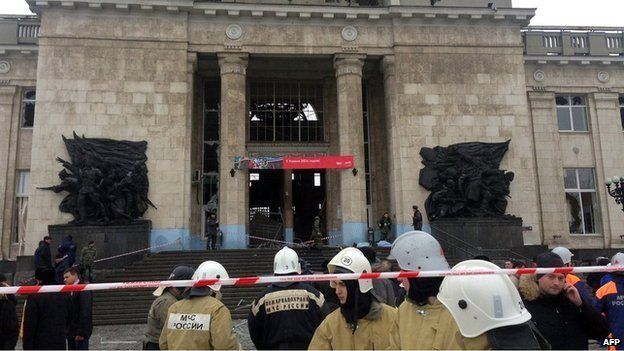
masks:
[[(618, 252), (611, 258), (612, 266), (624, 266), (624, 253)], [(610, 338), (619, 339), (619, 345), (612, 345), (609, 350), (624, 350), (624, 271), (613, 272), (613, 280), (596, 291), (598, 310), (609, 322)], [(599, 340), (600, 341), (600, 340)]]

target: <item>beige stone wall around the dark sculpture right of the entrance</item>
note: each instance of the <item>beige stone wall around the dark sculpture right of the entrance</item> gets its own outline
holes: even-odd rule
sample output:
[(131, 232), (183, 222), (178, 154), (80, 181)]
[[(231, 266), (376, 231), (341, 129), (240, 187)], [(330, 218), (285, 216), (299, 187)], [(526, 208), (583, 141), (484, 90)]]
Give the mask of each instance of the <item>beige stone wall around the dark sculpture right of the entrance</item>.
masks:
[[(520, 216), (527, 244), (540, 243), (540, 214), (528, 116), (519, 28), (397, 27), (395, 49), (397, 117), (392, 156), (397, 222), (409, 228), (412, 204), (423, 204), (428, 191), (418, 185), (421, 147), (511, 139), (502, 169), (516, 174), (507, 212)], [(424, 214), (424, 211), (423, 211)], [(426, 220), (425, 220), (426, 222)]]

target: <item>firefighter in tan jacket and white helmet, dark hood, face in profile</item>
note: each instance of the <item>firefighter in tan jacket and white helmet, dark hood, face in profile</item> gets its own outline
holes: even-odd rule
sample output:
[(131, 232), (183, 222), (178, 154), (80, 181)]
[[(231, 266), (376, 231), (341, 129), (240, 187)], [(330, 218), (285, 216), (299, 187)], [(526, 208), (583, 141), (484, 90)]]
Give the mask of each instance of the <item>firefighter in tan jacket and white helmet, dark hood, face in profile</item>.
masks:
[[(360, 250), (348, 247), (328, 264), (330, 273), (370, 273)], [(332, 281), (340, 308), (316, 329), (310, 350), (396, 350), (396, 308), (380, 303), (370, 279)]]

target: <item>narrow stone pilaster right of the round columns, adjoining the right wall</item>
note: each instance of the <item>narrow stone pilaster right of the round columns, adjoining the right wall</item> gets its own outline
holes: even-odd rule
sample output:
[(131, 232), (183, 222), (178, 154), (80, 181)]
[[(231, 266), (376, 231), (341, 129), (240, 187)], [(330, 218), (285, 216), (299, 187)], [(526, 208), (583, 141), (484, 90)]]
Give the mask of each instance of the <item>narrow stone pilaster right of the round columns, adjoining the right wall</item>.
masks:
[[(381, 72), (383, 73), (384, 79), (384, 105), (386, 109), (386, 130), (388, 133), (387, 160), (390, 193), (389, 212), (396, 215), (396, 218), (393, 218), (394, 226), (392, 227), (394, 237), (396, 237), (397, 235), (412, 230), (413, 228), (411, 227), (411, 207), (405, 204), (405, 199), (403, 198), (403, 177), (401, 176), (403, 165), (401, 163), (400, 145), (401, 122), (399, 120), (399, 113), (397, 109), (398, 91), (395, 60), (393, 55), (384, 56), (381, 60)], [(424, 206), (420, 207), (424, 209)]]

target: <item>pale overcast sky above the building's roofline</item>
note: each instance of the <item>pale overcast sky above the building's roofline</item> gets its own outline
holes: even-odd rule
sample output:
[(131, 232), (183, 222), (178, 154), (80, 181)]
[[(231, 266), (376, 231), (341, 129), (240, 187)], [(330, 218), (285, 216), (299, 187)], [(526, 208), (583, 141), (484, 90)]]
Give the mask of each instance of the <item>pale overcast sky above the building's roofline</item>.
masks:
[[(512, 0), (514, 7), (534, 7), (534, 26), (624, 27), (624, 0)], [(444, 0), (440, 2), (442, 4)], [(28, 14), (24, 0), (0, 0), (0, 14)]]

